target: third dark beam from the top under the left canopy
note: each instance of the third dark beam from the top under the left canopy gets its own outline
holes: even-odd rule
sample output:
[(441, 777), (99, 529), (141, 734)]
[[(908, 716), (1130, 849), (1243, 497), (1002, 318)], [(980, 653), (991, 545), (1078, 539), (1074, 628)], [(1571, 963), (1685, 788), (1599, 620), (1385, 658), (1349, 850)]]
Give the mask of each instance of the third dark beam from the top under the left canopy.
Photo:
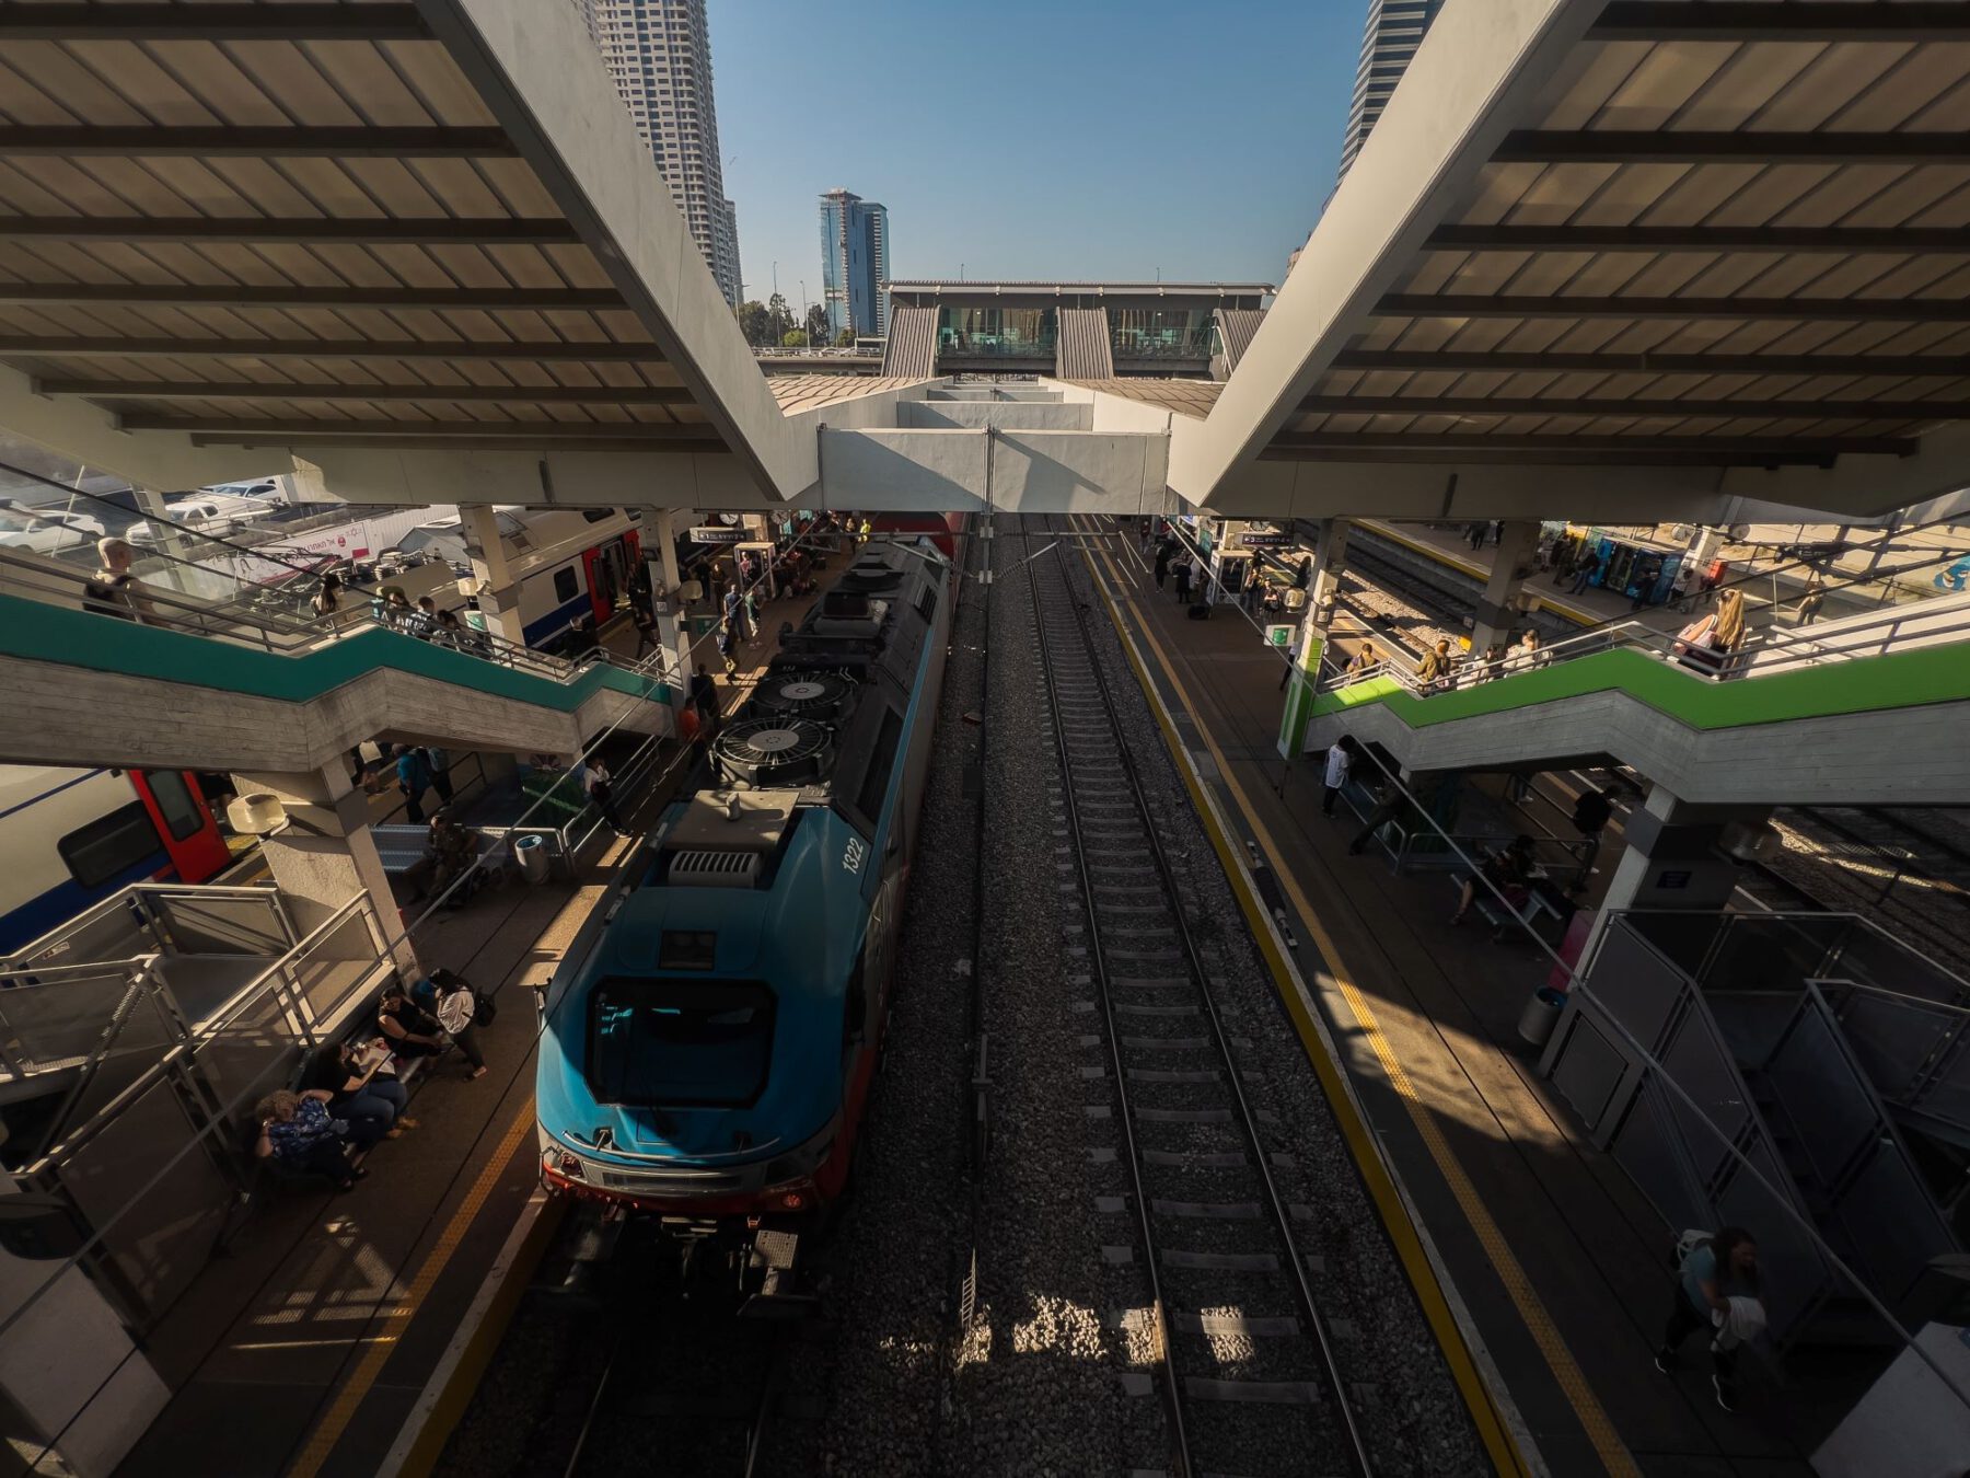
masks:
[(171, 240), (171, 242), (299, 242), (303, 246), (575, 246), (581, 236), (561, 219), (424, 217), (400, 221), (307, 221), (250, 217), (108, 217), (35, 215), (0, 217), (0, 240)]

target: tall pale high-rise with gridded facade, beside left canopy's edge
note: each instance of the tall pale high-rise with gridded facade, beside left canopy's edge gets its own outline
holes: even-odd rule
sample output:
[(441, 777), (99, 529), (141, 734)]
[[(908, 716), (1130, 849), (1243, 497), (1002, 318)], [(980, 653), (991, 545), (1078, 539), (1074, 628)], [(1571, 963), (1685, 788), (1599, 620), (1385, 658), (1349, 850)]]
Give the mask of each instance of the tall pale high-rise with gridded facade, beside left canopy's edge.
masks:
[(739, 221), (725, 199), (719, 114), (711, 101), (705, 0), (573, 0), (609, 65), (636, 132), (705, 254), (719, 292), (739, 305)]

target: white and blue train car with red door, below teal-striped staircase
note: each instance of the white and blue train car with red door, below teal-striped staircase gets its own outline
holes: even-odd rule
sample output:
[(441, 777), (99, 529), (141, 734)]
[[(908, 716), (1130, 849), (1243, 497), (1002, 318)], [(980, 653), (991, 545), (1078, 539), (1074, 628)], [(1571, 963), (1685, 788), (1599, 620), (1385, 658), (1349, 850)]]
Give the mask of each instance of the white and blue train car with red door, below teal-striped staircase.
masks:
[(0, 954), (130, 883), (205, 883), (227, 861), (191, 771), (0, 765)]

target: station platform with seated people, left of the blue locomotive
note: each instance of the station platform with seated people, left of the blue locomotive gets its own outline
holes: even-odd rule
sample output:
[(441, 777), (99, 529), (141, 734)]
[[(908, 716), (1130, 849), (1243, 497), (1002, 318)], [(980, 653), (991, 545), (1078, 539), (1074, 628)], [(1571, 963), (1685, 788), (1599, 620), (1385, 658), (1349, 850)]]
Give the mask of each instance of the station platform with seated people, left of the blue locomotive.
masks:
[[(847, 562), (829, 564), (823, 585)], [(776, 631), (794, 609), (764, 607), (762, 627)], [(611, 637), (634, 646), (634, 633)], [(717, 676), (725, 711), (776, 646), (762, 635), (737, 648), (737, 676)], [(676, 792), (688, 769), (678, 757), (662, 741), (660, 778), (626, 816), (632, 826), (652, 824)], [(372, 816), (392, 810), (394, 788)], [(455, 970), (496, 1001), (479, 1031), (491, 1072), (467, 1082), (457, 1052), (445, 1056), (412, 1088), (418, 1127), (378, 1145), (355, 1190), (278, 1186), (252, 1208), (148, 1340), (171, 1399), (118, 1478), (429, 1470), (559, 1220), (538, 1190), (532, 987), (554, 974), (630, 847), (611, 841), (571, 881), (510, 881), (418, 932), (426, 970)]]

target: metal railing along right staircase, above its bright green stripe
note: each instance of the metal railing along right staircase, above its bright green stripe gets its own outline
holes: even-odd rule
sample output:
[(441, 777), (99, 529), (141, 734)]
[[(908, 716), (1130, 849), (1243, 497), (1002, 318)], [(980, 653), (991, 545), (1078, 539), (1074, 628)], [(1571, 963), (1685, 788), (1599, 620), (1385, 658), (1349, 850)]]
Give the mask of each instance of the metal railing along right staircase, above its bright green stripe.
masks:
[(1440, 670), (1428, 678), (1418, 674), (1416, 668), (1420, 662), (1407, 658), (1385, 658), (1363, 668), (1342, 668), (1324, 656), (1318, 692), (1351, 688), (1369, 678), (1391, 678), (1416, 698), (1430, 698), (1611, 650), (1647, 652), (1649, 656), (1680, 666), (1696, 678), (1726, 682), (1730, 678), (1761, 678), (1824, 662), (1848, 662), (1860, 656), (1883, 656), (1897, 646), (1931, 646), (1962, 640), (1970, 640), (1970, 603), (1966, 601), (1950, 601), (1940, 611), (1935, 609), (1935, 603), (1913, 609), (1891, 607), (1828, 623), (1818, 633), (1810, 627), (1789, 631), (1767, 629), (1751, 635), (1743, 646), (1728, 652), (1704, 646), (1682, 633), (1659, 631), (1641, 621), (1621, 621), (1584, 631), (1578, 637), (1541, 646), (1535, 652), (1513, 650), (1495, 662), (1452, 660), (1448, 670)]

